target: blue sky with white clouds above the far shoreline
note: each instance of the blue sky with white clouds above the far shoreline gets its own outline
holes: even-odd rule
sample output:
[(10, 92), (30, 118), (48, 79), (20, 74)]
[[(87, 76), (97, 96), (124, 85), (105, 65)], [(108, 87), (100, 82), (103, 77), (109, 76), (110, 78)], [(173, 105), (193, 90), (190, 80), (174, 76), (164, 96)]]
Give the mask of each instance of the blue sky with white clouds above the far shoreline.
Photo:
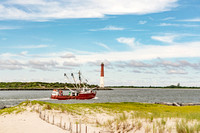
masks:
[(199, 0), (1, 0), (0, 82), (200, 86)]

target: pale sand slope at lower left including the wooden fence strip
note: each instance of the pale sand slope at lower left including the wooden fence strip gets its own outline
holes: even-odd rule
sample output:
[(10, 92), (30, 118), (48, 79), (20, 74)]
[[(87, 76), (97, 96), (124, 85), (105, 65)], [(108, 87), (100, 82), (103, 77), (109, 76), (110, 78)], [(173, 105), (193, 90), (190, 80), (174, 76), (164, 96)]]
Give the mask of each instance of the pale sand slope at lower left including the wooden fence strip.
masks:
[[(42, 110), (39, 105), (22, 108), (25, 111), (0, 115), (0, 133), (70, 133), (76, 131), (85, 133), (86, 130), (87, 133), (94, 133), (101, 130), (91, 126), (91, 122), (86, 125), (81, 116), (57, 110)], [(83, 123), (80, 120), (83, 120)]]

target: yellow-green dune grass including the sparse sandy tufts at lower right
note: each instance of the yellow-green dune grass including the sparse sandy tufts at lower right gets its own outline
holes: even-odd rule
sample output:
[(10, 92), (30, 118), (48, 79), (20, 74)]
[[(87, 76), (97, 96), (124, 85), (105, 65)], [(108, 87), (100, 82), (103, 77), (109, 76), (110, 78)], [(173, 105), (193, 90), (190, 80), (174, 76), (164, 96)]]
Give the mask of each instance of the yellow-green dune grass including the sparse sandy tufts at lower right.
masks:
[[(55, 111), (75, 116), (95, 116), (106, 114), (108, 119), (102, 121), (100, 117), (93, 117), (93, 124), (111, 131), (143, 132), (200, 132), (200, 106), (168, 106), (150, 103), (76, 103), (59, 104), (43, 101), (25, 101), (18, 106), (0, 110), (1, 114), (19, 113), (28, 107), (36, 107), (39, 111)], [(47, 111), (48, 112), (48, 111)], [(81, 116), (81, 117), (82, 117)], [(79, 117), (80, 118), (80, 117)], [(172, 125), (168, 123), (174, 122)]]

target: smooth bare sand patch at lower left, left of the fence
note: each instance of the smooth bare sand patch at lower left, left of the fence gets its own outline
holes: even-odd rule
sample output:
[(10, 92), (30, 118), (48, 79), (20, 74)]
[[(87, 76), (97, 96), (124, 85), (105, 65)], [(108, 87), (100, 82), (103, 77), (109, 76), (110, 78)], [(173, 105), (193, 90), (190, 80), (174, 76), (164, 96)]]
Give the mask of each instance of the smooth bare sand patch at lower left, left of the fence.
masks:
[(36, 112), (25, 111), (0, 115), (0, 133), (66, 133), (66, 130), (43, 121)]

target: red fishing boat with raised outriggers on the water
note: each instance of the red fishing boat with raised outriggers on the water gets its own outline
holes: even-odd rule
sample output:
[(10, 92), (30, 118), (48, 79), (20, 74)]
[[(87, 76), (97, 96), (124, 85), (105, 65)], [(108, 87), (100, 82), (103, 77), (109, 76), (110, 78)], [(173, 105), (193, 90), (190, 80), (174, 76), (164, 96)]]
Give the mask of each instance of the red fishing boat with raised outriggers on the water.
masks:
[[(85, 99), (92, 99), (95, 98), (96, 96), (96, 91), (94, 91), (95, 88), (88, 88), (84, 83), (81, 84), (81, 73), (80, 71), (78, 72), (79, 74), (79, 84), (76, 83), (76, 80), (74, 78), (73, 73), (71, 73), (71, 76), (73, 77), (73, 80), (75, 82), (74, 85), (74, 90), (65, 87), (69, 90), (68, 95), (64, 95), (63, 91), (61, 89), (54, 89), (52, 94), (51, 94), (51, 99), (58, 99), (58, 100), (69, 100), (69, 99), (77, 99), (77, 100), (85, 100)], [(65, 77), (67, 77), (66, 74), (64, 74)], [(67, 77), (69, 80), (69, 78)], [(87, 80), (86, 80), (87, 81)]]

